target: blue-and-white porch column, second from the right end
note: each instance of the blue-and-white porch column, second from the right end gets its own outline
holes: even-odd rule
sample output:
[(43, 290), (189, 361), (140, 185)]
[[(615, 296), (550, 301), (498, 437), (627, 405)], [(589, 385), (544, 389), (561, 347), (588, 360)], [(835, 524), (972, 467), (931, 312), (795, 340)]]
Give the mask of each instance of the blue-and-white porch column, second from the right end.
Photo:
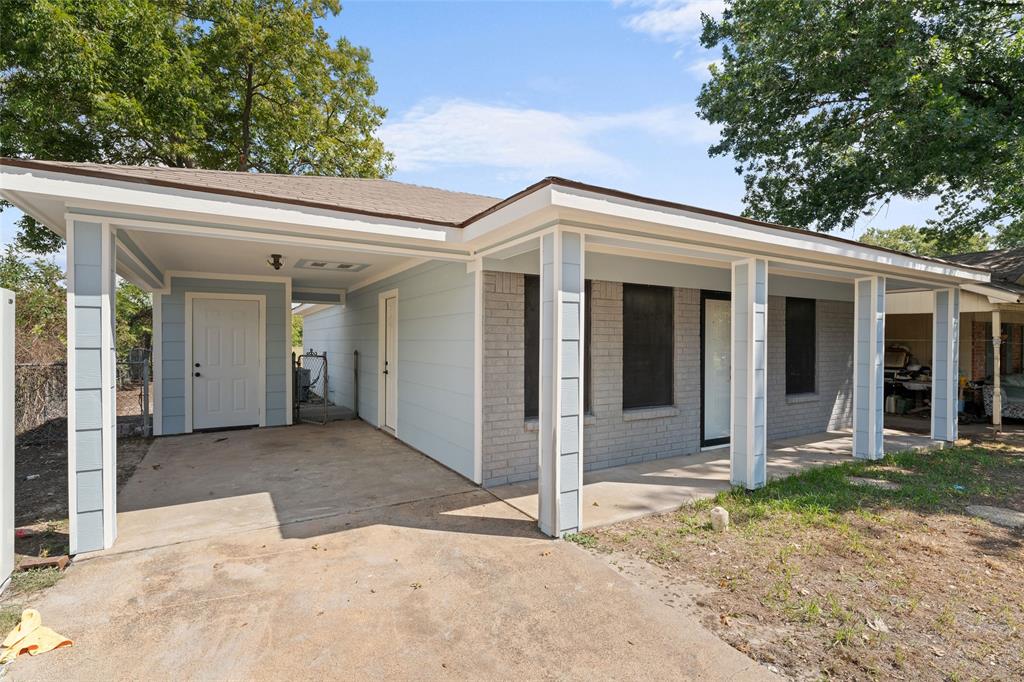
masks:
[(885, 457), (885, 278), (855, 281), (853, 300), (853, 456), (881, 460)]

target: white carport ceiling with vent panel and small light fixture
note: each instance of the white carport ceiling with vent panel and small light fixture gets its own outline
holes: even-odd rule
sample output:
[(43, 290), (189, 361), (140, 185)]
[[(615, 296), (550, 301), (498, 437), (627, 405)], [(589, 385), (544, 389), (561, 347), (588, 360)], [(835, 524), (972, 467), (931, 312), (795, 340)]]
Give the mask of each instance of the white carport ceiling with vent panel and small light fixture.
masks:
[[(348, 289), (367, 278), (400, 266), (407, 256), (311, 246), (284, 246), (241, 240), (213, 239), (164, 232), (124, 230), (165, 273), (215, 272), (245, 276), (292, 278), (293, 287)], [(274, 270), (270, 254), (281, 254), (284, 265)], [(302, 261), (350, 263), (353, 271), (299, 266)]]

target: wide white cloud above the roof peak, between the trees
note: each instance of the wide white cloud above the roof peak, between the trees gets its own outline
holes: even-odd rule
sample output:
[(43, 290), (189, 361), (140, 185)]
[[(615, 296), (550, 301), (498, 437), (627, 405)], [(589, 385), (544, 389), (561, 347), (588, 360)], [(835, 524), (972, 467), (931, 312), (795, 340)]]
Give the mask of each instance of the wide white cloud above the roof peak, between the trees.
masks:
[(629, 133), (675, 144), (717, 137), (688, 106), (592, 115), (466, 99), (422, 102), (380, 131), (401, 171), (482, 166), (531, 175), (624, 173), (629, 164), (601, 147), (609, 134)]

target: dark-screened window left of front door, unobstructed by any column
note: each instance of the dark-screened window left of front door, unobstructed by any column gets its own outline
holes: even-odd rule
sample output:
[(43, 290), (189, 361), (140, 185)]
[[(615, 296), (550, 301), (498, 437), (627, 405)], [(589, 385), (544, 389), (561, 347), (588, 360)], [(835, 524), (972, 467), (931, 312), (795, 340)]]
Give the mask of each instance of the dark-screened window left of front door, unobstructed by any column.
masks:
[(672, 404), (673, 292), (623, 285), (623, 409)]

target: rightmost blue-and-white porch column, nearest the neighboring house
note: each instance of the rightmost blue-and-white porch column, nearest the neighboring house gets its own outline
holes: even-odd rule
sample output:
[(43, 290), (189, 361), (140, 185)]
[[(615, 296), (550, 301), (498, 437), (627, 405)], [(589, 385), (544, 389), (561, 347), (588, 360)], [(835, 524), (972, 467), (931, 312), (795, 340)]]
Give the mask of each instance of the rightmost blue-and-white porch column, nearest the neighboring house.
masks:
[(936, 291), (933, 310), (932, 438), (952, 441), (959, 412), (959, 289)]

